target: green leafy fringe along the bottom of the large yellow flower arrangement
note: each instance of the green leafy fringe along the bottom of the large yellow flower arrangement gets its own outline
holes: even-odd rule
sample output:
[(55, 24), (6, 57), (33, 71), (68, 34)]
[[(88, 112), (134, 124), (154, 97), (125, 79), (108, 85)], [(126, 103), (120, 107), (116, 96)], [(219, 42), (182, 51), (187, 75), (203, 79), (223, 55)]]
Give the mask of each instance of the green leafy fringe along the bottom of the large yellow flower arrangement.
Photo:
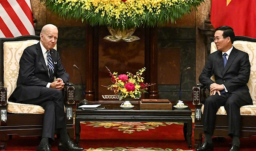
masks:
[(64, 3), (65, 0), (62, 0), (62, 3), (56, 1), (58, 0), (40, 0), (60, 18), (81, 19), (82, 22), (86, 21), (91, 26), (110, 26), (114, 29), (163, 26), (169, 21), (176, 23), (177, 19), (190, 14), (193, 9), (196, 10), (197, 6), (204, 2), (204, 0), (186, 0), (189, 2), (184, 3), (185, 0), (175, 0), (176, 2), (172, 6), (161, 4), (160, 12), (155, 11), (156, 8), (152, 8), (153, 11), (145, 8), (142, 14), (131, 12), (132, 15), (129, 17), (129, 15), (121, 13), (119, 17), (115, 17), (107, 15), (102, 9), (96, 12), (92, 6), (91, 9), (81, 8), (81, 3), (74, 2), (76, 5), (70, 5), (70, 3)]

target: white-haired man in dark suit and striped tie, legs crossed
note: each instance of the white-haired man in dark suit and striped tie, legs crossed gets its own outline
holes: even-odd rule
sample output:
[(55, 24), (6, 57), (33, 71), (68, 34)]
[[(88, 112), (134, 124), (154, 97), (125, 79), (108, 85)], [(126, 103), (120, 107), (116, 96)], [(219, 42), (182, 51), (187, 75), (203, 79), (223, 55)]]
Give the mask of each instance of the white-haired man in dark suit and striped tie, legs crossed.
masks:
[(60, 131), (59, 150), (81, 151), (83, 148), (70, 140), (66, 130), (62, 89), (64, 83), (69, 81), (69, 74), (62, 66), (58, 52), (53, 49), (57, 39), (57, 27), (47, 24), (40, 33), (40, 42), (24, 50), (20, 58), (17, 87), (10, 99), (44, 108), (42, 139), (37, 151), (51, 151), (49, 138), (54, 140), (55, 129)]

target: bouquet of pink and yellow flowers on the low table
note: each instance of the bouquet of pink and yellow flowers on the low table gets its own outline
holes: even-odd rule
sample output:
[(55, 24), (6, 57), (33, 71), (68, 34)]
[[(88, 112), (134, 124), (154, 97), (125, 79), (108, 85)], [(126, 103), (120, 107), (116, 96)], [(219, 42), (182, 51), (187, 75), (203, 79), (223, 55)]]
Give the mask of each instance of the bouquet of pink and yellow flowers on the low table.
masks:
[[(106, 67), (108, 69), (108, 67)], [(148, 87), (154, 84), (144, 83), (144, 78), (141, 76), (146, 70), (143, 67), (141, 70), (136, 72), (136, 75), (127, 72), (127, 74), (120, 74), (111, 71), (108, 69), (111, 81), (113, 84), (110, 84), (107, 87), (108, 90), (114, 91), (115, 95), (119, 96), (121, 101), (123, 98), (140, 98), (141, 93), (147, 93)]]

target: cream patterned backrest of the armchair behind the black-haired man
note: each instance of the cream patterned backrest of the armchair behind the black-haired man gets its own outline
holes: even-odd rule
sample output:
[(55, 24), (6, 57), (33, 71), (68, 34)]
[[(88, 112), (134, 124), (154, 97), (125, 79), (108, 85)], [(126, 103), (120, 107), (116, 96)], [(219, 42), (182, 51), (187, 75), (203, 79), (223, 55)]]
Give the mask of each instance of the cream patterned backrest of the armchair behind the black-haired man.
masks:
[[(236, 49), (247, 52), (249, 55), (251, 71), (247, 86), (250, 90), (251, 98), (253, 99), (253, 101), (256, 101), (256, 39), (243, 36), (236, 36), (233, 46)], [(212, 42), (210, 52), (212, 53), (215, 51), (217, 51), (217, 47), (215, 43)]]

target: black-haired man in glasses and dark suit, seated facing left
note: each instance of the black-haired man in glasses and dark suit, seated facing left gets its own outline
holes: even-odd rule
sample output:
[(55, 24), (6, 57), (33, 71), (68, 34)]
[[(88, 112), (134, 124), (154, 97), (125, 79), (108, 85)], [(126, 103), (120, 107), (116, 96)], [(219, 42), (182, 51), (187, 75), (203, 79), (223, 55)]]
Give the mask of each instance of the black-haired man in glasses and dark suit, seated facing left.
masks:
[[(246, 52), (233, 47), (235, 34), (229, 26), (215, 30), (214, 42), (218, 51), (208, 56), (199, 81), (210, 90), (204, 102), (204, 143), (196, 151), (212, 151), (212, 134), (218, 108), (225, 107), (228, 116), (229, 136), (233, 138), (230, 151), (239, 151), (240, 107), (252, 105), (247, 82), (250, 62)], [(215, 81), (210, 77), (214, 75)]]

